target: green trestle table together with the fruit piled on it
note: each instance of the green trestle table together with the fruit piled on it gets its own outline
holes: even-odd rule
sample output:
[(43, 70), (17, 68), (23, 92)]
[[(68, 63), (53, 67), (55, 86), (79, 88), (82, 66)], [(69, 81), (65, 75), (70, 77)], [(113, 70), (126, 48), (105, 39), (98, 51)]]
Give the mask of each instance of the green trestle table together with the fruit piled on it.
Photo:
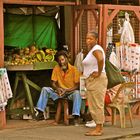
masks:
[(15, 72), (15, 83), (13, 85), (14, 97), (10, 102), (9, 113), (13, 109), (18, 84), (21, 80), (25, 89), (28, 106), (30, 107), (31, 114), (34, 115), (34, 104), (29, 86), (37, 91), (40, 91), (41, 88), (32, 80), (29, 80), (27, 75), (33, 71), (53, 69), (57, 64), (54, 61), (55, 54), (55, 49), (37, 49), (35, 46), (23, 49), (14, 48), (5, 52), (5, 67), (8, 71)]

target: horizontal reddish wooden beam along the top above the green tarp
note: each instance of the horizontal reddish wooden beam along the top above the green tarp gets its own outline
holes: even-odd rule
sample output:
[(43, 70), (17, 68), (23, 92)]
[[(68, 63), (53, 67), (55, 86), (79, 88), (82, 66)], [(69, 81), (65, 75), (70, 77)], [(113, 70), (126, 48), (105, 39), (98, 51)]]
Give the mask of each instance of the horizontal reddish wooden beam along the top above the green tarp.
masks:
[(75, 2), (58, 2), (58, 1), (35, 1), (35, 0), (3, 0), (4, 4), (24, 4), (24, 5), (76, 5)]

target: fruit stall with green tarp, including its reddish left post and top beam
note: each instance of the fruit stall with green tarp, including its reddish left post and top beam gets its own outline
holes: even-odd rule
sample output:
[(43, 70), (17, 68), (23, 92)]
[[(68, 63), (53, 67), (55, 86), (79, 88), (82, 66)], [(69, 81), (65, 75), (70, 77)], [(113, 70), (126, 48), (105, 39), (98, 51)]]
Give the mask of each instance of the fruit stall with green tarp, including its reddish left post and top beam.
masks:
[[(58, 47), (59, 29), (55, 16), (59, 13), (59, 6), (65, 5), (75, 5), (75, 2), (0, 1), (0, 66), (16, 75), (14, 96), (19, 81), (23, 81), (32, 114), (34, 111), (29, 85), (37, 90), (40, 90), (40, 87), (29, 80), (28, 72), (48, 71), (56, 64), (53, 61), (54, 55), (50, 55), (50, 50), (47, 52), (46, 49), (55, 50)], [(34, 45), (36, 50), (32, 47)], [(5, 118), (5, 113), (0, 118)], [(4, 127), (1, 124), (0, 126)]]

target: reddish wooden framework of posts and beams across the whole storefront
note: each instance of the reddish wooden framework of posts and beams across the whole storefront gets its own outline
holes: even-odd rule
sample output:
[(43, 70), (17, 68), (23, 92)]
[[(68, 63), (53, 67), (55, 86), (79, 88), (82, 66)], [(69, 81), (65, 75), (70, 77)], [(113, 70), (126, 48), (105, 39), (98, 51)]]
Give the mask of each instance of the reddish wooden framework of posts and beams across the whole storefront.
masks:
[[(81, 18), (84, 13), (90, 11), (95, 20), (95, 27), (98, 26), (97, 30), (99, 33), (99, 44), (106, 50), (106, 35), (107, 35), (107, 27), (112, 22), (114, 17), (120, 10), (123, 11), (133, 11), (140, 21), (140, 6), (125, 6), (125, 5), (103, 5), (103, 4), (81, 4), (79, 0), (75, 2), (69, 1), (40, 1), (40, 0), (0, 0), (0, 67), (4, 67), (4, 4), (18, 4), (18, 5), (55, 5), (55, 6), (70, 6), (70, 11), (72, 12), (71, 20), (72, 20), (72, 29), (70, 30), (69, 39), (71, 42), (70, 52), (72, 55), (72, 59), (74, 60), (75, 55), (78, 53), (79, 49), (81, 49), (80, 42), (80, 26)], [(111, 11), (111, 12), (110, 12)], [(90, 17), (91, 18), (91, 17)], [(90, 19), (89, 18), (89, 19)], [(87, 29), (88, 31), (88, 29)], [(87, 32), (86, 31), (86, 32)], [(140, 33), (139, 33), (140, 34)], [(3, 113), (3, 118), (5, 118), (5, 113)], [(0, 119), (2, 119), (0, 115)], [(5, 120), (5, 119), (3, 119)], [(6, 124), (6, 123), (4, 123)], [(1, 125), (1, 124), (0, 124)], [(5, 126), (5, 125), (3, 125)]]

